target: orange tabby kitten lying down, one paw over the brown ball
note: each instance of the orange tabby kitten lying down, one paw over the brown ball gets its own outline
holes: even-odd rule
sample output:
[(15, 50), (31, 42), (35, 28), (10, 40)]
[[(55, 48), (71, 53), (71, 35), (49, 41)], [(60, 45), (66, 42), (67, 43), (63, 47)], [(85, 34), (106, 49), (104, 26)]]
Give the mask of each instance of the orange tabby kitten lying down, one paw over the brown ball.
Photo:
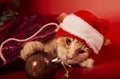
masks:
[(37, 51), (57, 54), (58, 58), (66, 65), (79, 64), (82, 67), (92, 67), (94, 60), (88, 58), (91, 50), (81, 41), (71, 37), (59, 37), (45, 44), (31, 41), (21, 50), (21, 58), (26, 60)]

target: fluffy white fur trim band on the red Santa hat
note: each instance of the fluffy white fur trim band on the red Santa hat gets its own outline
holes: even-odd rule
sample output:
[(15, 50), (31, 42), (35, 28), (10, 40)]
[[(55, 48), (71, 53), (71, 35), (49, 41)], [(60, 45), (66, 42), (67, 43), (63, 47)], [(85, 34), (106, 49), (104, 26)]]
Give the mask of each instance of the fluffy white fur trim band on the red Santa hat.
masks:
[(98, 54), (104, 36), (86, 21), (75, 14), (70, 14), (64, 18), (60, 26), (64, 31), (83, 39), (94, 53)]

